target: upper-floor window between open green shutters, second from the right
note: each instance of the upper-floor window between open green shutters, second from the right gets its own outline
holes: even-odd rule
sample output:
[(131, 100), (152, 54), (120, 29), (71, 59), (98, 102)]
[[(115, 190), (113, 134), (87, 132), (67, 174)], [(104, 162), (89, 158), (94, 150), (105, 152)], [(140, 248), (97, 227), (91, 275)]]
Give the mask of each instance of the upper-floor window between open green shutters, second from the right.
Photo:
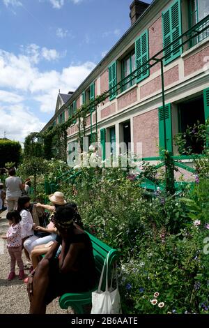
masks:
[[(136, 79), (132, 80), (132, 77), (127, 77), (136, 69), (136, 61), (135, 61), (135, 52), (134, 50), (128, 54), (125, 59), (121, 61), (121, 92), (126, 89), (132, 87), (136, 83)], [(125, 78), (127, 77), (127, 79)]]

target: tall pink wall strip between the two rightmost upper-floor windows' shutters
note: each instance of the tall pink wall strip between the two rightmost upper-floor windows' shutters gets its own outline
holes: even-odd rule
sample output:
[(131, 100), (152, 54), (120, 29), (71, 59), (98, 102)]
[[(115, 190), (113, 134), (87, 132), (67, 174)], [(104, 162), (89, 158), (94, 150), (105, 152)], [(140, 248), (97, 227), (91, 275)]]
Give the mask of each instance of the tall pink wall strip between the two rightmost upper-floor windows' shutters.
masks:
[[(149, 54), (150, 58), (162, 50), (162, 18), (161, 16), (149, 28)], [(157, 58), (161, 58), (162, 54)], [(153, 64), (151, 61), (150, 64)], [(150, 75), (160, 69), (160, 63), (150, 68)]]

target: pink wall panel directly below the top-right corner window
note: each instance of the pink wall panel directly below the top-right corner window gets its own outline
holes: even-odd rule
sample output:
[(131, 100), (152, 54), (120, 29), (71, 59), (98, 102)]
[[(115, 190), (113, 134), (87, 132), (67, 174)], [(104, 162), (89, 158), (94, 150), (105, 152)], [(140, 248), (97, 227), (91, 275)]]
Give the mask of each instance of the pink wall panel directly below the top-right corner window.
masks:
[(204, 61), (204, 57), (209, 56), (209, 46), (205, 49), (201, 50), (197, 54), (185, 59), (184, 61), (184, 70), (185, 76), (196, 72), (196, 70), (200, 70), (204, 65), (208, 62), (207, 59)]

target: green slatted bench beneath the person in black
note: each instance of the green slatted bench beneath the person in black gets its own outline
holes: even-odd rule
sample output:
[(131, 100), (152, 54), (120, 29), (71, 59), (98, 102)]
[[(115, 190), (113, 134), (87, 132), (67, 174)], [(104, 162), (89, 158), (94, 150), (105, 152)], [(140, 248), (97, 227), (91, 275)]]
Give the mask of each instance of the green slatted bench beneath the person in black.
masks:
[[(110, 272), (111, 267), (113, 267), (114, 262), (118, 258), (118, 251), (116, 249), (107, 246), (102, 241), (95, 238), (92, 234), (89, 234), (88, 232), (86, 233), (90, 237), (93, 246), (93, 255), (94, 255), (95, 267), (97, 272), (95, 287), (88, 292), (66, 293), (62, 295), (59, 299), (59, 305), (61, 308), (68, 309), (68, 307), (71, 307), (74, 309), (74, 311), (77, 314), (84, 314), (83, 306), (91, 304), (91, 293), (94, 290), (98, 289), (102, 267), (104, 264), (104, 260), (107, 257), (107, 254), (109, 253), (108, 272)], [(104, 274), (104, 278), (102, 281), (102, 288), (103, 288), (102, 290), (104, 290), (105, 277), (106, 275)]]

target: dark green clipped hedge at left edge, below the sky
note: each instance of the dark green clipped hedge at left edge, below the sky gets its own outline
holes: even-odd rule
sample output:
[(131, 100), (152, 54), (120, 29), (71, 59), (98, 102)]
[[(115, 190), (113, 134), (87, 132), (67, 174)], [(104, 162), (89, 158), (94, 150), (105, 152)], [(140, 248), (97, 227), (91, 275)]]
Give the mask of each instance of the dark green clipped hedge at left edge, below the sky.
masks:
[(20, 163), (22, 148), (20, 142), (11, 140), (0, 140), (0, 167), (5, 167), (8, 162)]

